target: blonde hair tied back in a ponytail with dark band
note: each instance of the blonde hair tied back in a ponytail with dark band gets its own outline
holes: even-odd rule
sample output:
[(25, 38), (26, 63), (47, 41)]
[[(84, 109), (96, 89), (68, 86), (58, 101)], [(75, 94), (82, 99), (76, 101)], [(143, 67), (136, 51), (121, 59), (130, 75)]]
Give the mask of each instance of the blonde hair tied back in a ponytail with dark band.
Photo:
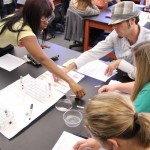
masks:
[(88, 103), (85, 126), (98, 140), (136, 137), (146, 148), (150, 146), (150, 120), (147, 118), (145, 114), (136, 114), (132, 102), (126, 97), (107, 92), (96, 95)]

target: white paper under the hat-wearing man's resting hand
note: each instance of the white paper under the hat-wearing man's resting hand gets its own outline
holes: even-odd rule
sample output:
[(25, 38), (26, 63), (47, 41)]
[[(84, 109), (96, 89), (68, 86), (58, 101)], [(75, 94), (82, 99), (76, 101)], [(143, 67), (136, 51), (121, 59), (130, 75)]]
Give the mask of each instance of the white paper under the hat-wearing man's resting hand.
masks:
[(104, 62), (100, 60), (95, 60), (84, 65), (83, 67), (78, 69), (77, 72), (106, 82), (110, 77), (112, 77), (113, 75), (117, 73), (116, 71), (114, 71), (112, 76), (109, 76), (109, 77), (104, 75), (107, 67), (108, 65), (105, 64)]

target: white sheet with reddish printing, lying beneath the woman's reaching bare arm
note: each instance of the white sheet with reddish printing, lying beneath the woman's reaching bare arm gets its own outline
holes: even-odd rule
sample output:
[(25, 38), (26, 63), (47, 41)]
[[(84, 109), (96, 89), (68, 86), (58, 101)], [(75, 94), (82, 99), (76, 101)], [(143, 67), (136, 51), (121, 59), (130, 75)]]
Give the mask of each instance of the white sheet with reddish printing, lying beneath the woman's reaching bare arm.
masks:
[[(60, 66), (59, 66), (60, 67)], [(84, 78), (84, 75), (77, 73), (75, 71), (70, 71), (68, 75), (75, 81), (79, 82), (82, 78)], [(42, 75), (38, 77), (38, 79), (41, 79), (43, 81), (47, 81), (51, 83), (51, 86), (55, 88), (56, 90), (67, 93), (70, 90), (70, 87), (67, 82), (64, 80), (60, 79), (58, 82), (54, 82), (53, 76), (49, 71), (46, 71)]]

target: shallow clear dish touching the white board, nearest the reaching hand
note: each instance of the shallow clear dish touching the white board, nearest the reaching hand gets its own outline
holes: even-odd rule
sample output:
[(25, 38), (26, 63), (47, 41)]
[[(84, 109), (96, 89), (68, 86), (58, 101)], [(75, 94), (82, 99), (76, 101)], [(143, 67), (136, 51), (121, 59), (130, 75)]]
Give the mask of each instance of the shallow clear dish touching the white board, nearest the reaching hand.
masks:
[(72, 102), (69, 99), (60, 99), (56, 104), (55, 107), (59, 111), (68, 111), (72, 108)]

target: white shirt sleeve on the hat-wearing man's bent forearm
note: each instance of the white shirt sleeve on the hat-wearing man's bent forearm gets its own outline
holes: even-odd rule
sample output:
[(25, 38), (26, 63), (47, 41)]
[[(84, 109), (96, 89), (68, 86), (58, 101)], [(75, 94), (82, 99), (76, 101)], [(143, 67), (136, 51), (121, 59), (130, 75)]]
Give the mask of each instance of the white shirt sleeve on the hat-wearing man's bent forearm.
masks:
[(126, 72), (131, 79), (135, 79), (136, 67), (128, 63), (124, 59), (119, 63), (118, 69)]

